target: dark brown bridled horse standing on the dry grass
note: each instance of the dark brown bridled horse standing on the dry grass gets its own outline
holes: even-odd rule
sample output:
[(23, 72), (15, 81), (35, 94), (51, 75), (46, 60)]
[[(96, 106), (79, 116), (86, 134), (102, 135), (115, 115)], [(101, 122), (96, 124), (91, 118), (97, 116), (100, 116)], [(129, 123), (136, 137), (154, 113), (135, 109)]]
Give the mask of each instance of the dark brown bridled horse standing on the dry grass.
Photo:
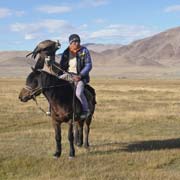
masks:
[(69, 124), (68, 139), (70, 143), (69, 156), (75, 156), (74, 143), (78, 146), (83, 145), (83, 126), (85, 126), (84, 147), (89, 146), (88, 136), (90, 123), (95, 110), (95, 92), (86, 91), (88, 96), (89, 108), (91, 115), (80, 120), (81, 104), (76, 98), (76, 115), (75, 115), (75, 130), (73, 131), (73, 86), (70, 82), (57, 78), (54, 75), (44, 71), (33, 70), (26, 79), (26, 87), (20, 92), (19, 99), (22, 102), (27, 102), (34, 99), (41, 93), (47, 98), (51, 106), (51, 117), (55, 129), (56, 152), (54, 157), (61, 156), (61, 123)]

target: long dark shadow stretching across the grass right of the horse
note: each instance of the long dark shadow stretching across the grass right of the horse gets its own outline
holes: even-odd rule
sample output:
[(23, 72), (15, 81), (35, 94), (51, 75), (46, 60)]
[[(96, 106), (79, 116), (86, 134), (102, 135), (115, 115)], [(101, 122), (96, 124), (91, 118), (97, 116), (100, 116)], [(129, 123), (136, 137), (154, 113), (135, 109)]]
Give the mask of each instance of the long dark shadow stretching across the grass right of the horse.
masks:
[(111, 142), (104, 144), (91, 145), (90, 153), (93, 154), (111, 154), (121, 152), (143, 152), (159, 151), (167, 149), (180, 149), (180, 138), (165, 140), (147, 140), (136, 142)]

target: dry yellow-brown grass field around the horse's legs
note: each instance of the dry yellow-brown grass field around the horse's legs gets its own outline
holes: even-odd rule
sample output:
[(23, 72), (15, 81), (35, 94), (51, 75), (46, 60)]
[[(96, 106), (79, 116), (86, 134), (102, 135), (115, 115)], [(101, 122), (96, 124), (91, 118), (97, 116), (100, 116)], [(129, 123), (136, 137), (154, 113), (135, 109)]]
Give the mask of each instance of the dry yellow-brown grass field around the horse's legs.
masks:
[[(97, 108), (89, 150), (55, 160), (51, 119), (21, 103), (24, 79), (0, 79), (0, 179), (179, 180), (180, 80), (92, 79)], [(41, 106), (47, 102), (40, 96)]]

